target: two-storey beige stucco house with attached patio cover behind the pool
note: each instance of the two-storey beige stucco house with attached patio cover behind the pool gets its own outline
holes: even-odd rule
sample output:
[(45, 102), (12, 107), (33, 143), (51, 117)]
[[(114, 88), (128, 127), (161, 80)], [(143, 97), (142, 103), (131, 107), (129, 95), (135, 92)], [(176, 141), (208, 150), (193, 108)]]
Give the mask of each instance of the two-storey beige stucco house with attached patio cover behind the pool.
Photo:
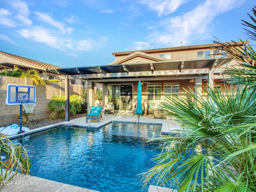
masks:
[[(216, 84), (215, 88), (221, 89), (222, 72), (227, 65), (236, 62), (230, 62), (225, 53), (220, 55), (219, 46), (204, 44), (114, 52), (115, 60), (107, 65), (61, 68), (56, 71), (65, 75), (66, 82), (76, 78), (88, 81), (89, 110), (94, 106), (94, 84), (97, 83), (102, 84), (103, 107), (107, 102), (113, 102), (115, 110), (132, 111), (140, 80), (142, 104), (146, 109), (149, 104), (158, 104), (166, 96), (185, 97), (183, 88), (190, 88), (196, 94), (203, 94), (207, 83), (212, 87)], [(68, 89), (65, 91), (68, 95)]]

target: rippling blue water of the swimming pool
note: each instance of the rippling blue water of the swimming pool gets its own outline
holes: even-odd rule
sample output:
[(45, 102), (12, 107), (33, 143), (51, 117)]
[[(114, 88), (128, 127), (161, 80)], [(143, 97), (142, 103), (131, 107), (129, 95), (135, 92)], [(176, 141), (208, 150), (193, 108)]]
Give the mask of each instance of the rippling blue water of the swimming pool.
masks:
[(58, 127), (18, 138), (31, 175), (102, 192), (142, 191), (138, 174), (154, 166), (160, 125), (113, 122), (102, 128)]

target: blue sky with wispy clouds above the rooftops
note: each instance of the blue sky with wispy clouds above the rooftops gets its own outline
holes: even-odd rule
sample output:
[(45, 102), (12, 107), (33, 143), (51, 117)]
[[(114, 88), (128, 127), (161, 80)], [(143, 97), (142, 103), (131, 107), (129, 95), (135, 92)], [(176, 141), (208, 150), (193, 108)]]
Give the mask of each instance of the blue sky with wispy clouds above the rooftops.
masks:
[[(0, 50), (60, 67), (113, 52), (246, 40), (254, 0), (1, 0)], [(216, 38), (215, 38), (215, 37)]]

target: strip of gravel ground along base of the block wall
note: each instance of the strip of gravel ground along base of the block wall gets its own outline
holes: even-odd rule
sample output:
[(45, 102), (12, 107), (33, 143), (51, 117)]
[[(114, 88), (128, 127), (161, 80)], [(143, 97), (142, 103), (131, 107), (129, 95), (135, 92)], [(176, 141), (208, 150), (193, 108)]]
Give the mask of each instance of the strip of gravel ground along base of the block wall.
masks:
[[(76, 119), (76, 118), (80, 118), (80, 117), (84, 117), (86, 116), (86, 113), (78, 113), (75, 116), (70, 116), (70, 119)], [(30, 129), (35, 129), (38, 127), (43, 127), (43, 126), (47, 126), (47, 125), (52, 125), (55, 123), (59, 123), (65, 121), (65, 119), (54, 119), (54, 120), (49, 120), (48, 118), (41, 118), (41, 119), (36, 119), (36, 120), (29, 120), (28, 123), (22, 123), (22, 126), (24, 127), (28, 127)], [(14, 122), (16, 124), (19, 124), (19, 120), (17, 120), (16, 122)], [(2, 127), (5, 127), (7, 125), (3, 125)]]

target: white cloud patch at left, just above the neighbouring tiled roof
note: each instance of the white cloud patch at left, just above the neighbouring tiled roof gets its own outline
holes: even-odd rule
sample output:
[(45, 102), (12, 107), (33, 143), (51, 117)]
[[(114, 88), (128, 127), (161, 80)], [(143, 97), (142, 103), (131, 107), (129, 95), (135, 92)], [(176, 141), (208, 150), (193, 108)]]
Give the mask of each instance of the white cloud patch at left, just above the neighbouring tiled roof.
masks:
[(57, 49), (61, 48), (61, 42), (54, 36), (52, 36), (47, 30), (41, 27), (34, 27), (32, 29), (23, 29), (18, 31), (24, 38), (30, 38), (35, 42), (45, 43)]

